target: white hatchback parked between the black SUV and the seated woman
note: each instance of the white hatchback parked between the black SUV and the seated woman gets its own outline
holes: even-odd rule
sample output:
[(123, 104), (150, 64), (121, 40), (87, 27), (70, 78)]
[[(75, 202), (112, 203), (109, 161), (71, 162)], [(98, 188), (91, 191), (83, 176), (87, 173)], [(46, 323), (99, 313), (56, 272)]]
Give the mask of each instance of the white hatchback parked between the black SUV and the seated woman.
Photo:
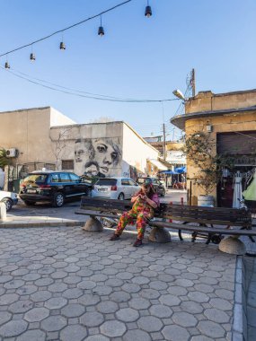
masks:
[(92, 197), (104, 197), (110, 199), (130, 199), (140, 186), (129, 178), (102, 178), (98, 179), (92, 190)]

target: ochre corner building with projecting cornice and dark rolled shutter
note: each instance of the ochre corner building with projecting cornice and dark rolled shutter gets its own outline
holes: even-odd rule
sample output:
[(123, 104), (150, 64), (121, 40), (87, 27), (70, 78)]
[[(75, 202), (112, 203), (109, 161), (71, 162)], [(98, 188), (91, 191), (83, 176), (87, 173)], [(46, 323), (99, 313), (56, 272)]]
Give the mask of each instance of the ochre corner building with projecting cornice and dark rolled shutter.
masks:
[[(252, 181), (256, 181), (256, 90), (218, 94), (210, 91), (199, 92), (185, 102), (185, 114), (172, 118), (171, 122), (183, 129), (186, 136), (199, 131), (205, 132), (215, 142), (216, 153), (231, 155), (234, 158), (234, 169), (232, 172), (224, 170), (221, 182), (212, 193), (216, 205), (233, 206), (236, 178), (241, 178), (243, 197), (245, 191), (254, 186)], [(197, 169), (191, 160), (187, 163), (188, 178), (193, 178)], [(191, 203), (197, 204), (197, 197), (202, 194), (200, 188), (193, 181), (188, 188), (191, 189)], [(253, 196), (247, 198), (250, 199), (249, 204), (253, 205)]]

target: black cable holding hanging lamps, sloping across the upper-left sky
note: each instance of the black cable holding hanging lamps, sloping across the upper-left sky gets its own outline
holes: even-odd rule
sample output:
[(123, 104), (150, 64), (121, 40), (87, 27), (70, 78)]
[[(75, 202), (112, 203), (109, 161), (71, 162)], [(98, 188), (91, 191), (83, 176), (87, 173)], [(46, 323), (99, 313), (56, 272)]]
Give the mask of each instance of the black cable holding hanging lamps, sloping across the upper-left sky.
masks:
[(16, 51), (22, 49), (22, 48), (28, 48), (28, 47), (32, 46), (33, 44), (36, 44), (36, 43), (38, 43), (38, 42), (40, 42), (40, 41), (42, 41), (42, 40), (45, 40), (45, 39), (49, 39), (49, 38), (53, 37), (54, 35), (56, 35), (56, 34), (58, 34), (58, 33), (61, 33), (61, 32), (64, 32), (64, 31), (67, 31), (67, 30), (70, 30), (70, 29), (73, 29), (75, 26), (81, 25), (81, 24), (84, 23), (84, 22), (89, 22), (90, 20), (93, 20), (93, 19), (95, 19), (95, 18), (101, 16), (102, 14), (105, 14), (105, 13), (108, 13), (108, 12), (110, 12), (110, 11), (113, 11), (113, 10), (115, 10), (116, 8), (118, 8), (119, 6), (122, 6), (122, 5), (124, 5), (124, 4), (128, 4), (128, 3), (130, 3), (131, 1), (132, 1), (132, 0), (127, 0), (127, 1), (124, 1), (123, 3), (116, 4), (115, 6), (110, 7), (110, 8), (108, 8), (108, 9), (105, 10), (105, 11), (102, 11), (102, 13), (95, 14), (95, 15), (89, 17), (89, 18), (86, 18), (86, 19), (82, 20), (81, 22), (75, 22), (73, 25), (70, 25), (70, 26), (68, 26), (68, 27), (66, 27), (66, 28), (64, 28), (64, 29), (62, 29), (62, 30), (54, 31), (54, 32), (50, 33), (48, 36), (45, 36), (45, 37), (42, 37), (42, 38), (40, 38), (40, 39), (34, 40), (34, 41), (32, 41), (31, 43), (25, 44), (25, 45), (23, 45), (23, 46), (21, 46), (21, 47), (19, 47), (19, 48), (13, 48), (12, 50), (10, 50), (10, 51), (8, 51), (8, 52), (5, 52), (5, 53), (1, 54), (0, 57), (7, 56), (7, 55), (9, 55), (9, 54), (11, 54), (11, 53), (13, 53), (13, 52), (16, 52)]

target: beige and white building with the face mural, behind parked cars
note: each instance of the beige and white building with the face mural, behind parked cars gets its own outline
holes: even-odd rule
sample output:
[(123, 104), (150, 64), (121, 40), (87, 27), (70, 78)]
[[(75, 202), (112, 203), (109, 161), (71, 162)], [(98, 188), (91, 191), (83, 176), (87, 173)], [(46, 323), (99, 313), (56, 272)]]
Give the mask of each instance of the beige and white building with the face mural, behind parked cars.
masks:
[(100, 176), (137, 178), (158, 151), (122, 121), (76, 124), (46, 107), (0, 113), (0, 145), (17, 177), (41, 166)]

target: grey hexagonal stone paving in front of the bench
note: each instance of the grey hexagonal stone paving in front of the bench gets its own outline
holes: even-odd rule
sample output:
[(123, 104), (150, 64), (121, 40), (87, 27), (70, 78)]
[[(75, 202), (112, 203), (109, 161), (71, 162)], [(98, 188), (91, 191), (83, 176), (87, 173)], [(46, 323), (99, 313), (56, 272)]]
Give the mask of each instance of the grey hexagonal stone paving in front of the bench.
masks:
[(235, 257), (134, 232), (1, 230), (0, 339), (230, 340)]

